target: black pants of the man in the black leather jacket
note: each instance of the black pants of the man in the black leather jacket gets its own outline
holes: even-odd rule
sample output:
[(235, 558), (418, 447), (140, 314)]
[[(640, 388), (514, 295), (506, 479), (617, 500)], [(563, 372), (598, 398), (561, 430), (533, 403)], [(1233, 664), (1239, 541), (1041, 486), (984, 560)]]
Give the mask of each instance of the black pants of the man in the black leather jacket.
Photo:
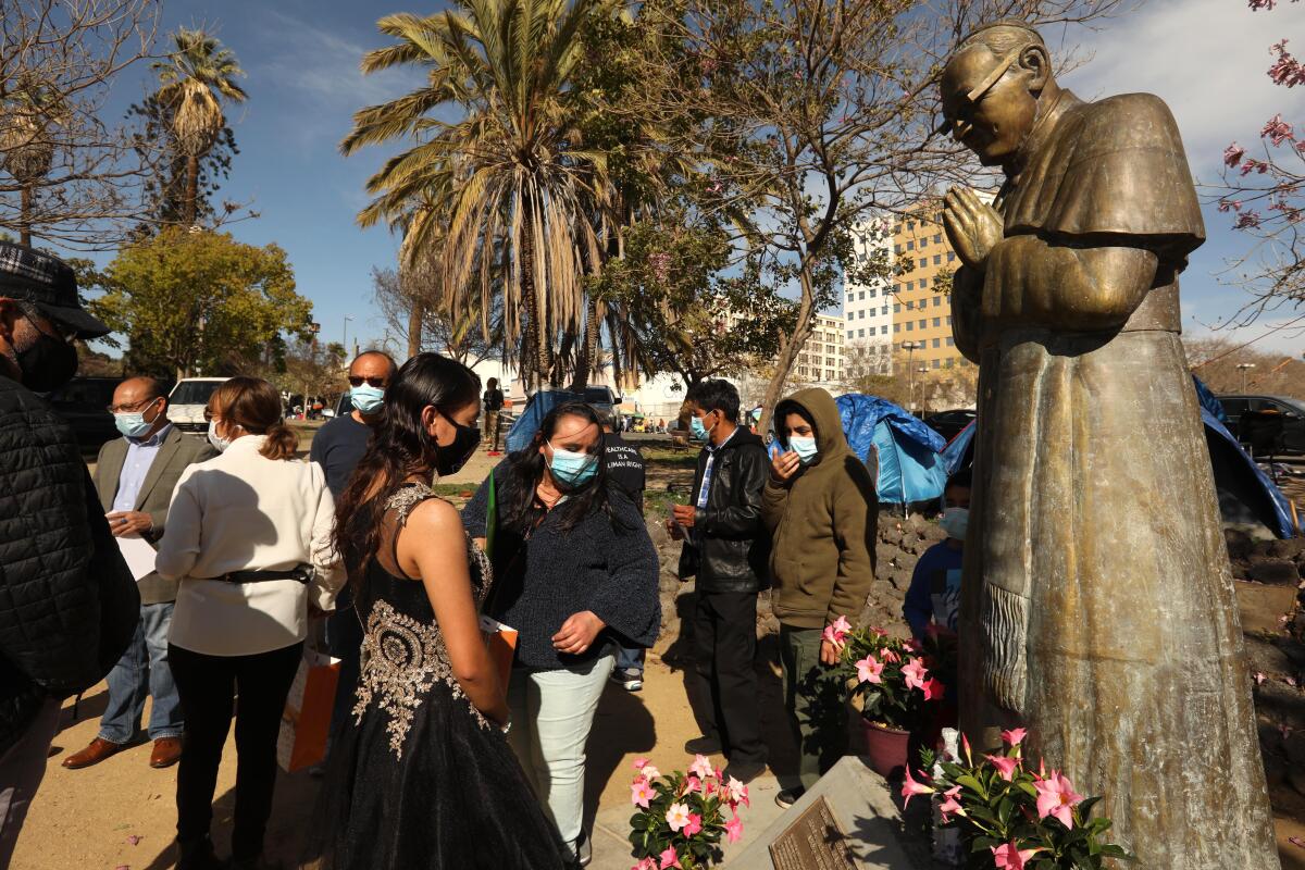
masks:
[(757, 593), (698, 592), (693, 610), (694, 670), (711, 697), (705, 732), (720, 736), (731, 764), (765, 763), (757, 710)]

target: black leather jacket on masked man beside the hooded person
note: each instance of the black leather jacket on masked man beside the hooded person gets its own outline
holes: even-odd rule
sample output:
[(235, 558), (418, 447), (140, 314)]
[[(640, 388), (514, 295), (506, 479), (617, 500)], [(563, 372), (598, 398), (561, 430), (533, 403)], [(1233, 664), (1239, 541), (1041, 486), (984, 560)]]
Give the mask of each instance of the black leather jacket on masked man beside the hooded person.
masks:
[[(693, 473), (690, 505), (706, 467), (703, 450)], [(766, 445), (740, 427), (716, 451), (707, 506), (698, 509), (680, 552), (681, 579), (697, 575), (702, 592), (757, 592), (770, 584), (770, 532), (761, 520), (761, 490), (769, 472)]]

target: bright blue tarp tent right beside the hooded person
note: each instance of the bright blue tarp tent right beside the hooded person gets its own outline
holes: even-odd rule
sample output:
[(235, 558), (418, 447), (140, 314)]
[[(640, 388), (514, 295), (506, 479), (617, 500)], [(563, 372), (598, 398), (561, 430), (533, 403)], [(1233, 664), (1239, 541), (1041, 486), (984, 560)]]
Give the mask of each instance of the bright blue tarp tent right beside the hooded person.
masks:
[(947, 472), (940, 450), (946, 443), (919, 417), (887, 399), (850, 393), (835, 399), (847, 443), (861, 462), (878, 454), (880, 503), (912, 505), (942, 496)]

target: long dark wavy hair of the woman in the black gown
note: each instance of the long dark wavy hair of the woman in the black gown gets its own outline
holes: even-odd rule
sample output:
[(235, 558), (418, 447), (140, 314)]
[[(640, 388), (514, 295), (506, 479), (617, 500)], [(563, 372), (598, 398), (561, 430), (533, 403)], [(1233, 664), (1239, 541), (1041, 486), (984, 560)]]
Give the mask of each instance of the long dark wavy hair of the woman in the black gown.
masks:
[(422, 411), (435, 406), (448, 416), (479, 398), (476, 373), (438, 353), (418, 353), (390, 381), (367, 453), (335, 505), (335, 549), (350, 577), (380, 548), (390, 493), (405, 479), (435, 467), (437, 446), (422, 425)]

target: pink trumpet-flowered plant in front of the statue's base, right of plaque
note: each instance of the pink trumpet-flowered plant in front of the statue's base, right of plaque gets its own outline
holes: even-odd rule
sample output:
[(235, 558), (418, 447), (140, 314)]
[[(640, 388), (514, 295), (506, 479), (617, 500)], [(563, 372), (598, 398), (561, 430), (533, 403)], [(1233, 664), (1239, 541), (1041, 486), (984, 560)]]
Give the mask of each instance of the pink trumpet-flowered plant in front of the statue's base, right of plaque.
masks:
[[(1107, 858), (1133, 861), (1105, 840), (1111, 820), (1092, 818), (1099, 797), (1074, 792), (1060, 771), (1024, 767), (1021, 743), (1026, 730), (1002, 732), (1005, 750), (975, 759), (962, 737), (963, 758), (938, 760), (921, 750), (925, 770), (942, 775), (920, 780), (907, 770), (902, 796), (937, 794), (946, 826), (960, 831), (970, 870), (1101, 870)], [(934, 767), (937, 760), (938, 767)]]

